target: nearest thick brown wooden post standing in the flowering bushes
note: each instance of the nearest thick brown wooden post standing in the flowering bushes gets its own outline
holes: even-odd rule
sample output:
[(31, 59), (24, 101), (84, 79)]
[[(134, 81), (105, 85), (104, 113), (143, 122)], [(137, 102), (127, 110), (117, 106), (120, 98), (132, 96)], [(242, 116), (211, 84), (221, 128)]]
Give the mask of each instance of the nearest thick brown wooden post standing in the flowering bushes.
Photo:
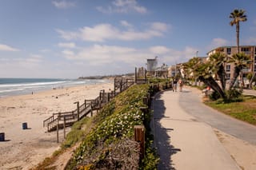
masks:
[(144, 125), (134, 126), (134, 140), (139, 143), (140, 146), (140, 158), (143, 159), (145, 155), (145, 127)]

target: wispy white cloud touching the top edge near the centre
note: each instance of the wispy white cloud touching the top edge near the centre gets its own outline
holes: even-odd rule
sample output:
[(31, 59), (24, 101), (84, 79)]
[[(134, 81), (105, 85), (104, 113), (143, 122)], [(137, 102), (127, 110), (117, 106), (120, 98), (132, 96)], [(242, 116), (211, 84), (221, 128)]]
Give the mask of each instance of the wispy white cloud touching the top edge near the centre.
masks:
[(113, 14), (113, 13), (126, 14), (129, 12), (137, 12), (139, 14), (147, 13), (146, 7), (139, 6), (136, 0), (114, 0), (110, 6), (107, 6), (107, 7), (98, 6), (96, 9), (104, 14)]

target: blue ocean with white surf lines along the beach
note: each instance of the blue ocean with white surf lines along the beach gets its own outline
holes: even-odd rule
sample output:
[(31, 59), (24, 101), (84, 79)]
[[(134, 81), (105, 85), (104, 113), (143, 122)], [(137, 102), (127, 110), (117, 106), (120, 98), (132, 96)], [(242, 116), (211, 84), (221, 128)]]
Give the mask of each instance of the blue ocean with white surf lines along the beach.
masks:
[(110, 82), (90, 79), (50, 79), (50, 78), (0, 78), (0, 97), (36, 93), (48, 89), (60, 89), (76, 85), (94, 85)]

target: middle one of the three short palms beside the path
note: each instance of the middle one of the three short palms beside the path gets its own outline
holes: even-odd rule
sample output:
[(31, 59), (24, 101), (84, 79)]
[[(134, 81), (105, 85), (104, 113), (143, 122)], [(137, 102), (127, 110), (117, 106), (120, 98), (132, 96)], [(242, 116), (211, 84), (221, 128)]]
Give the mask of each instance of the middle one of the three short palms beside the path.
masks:
[(223, 91), (225, 91), (226, 89), (226, 72), (224, 67), (226, 61), (227, 61), (227, 56), (224, 53), (217, 52), (210, 55), (210, 62), (212, 65), (214, 65), (213, 72), (217, 73), (218, 78), (221, 81)]

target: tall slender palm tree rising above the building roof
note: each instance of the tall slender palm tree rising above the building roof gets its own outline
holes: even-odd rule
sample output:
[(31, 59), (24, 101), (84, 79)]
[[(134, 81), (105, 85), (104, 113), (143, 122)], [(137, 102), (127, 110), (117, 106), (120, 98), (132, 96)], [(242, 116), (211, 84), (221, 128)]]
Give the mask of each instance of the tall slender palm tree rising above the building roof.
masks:
[(236, 26), (236, 33), (237, 33), (237, 47), (238, 47), (238, 53), (239, 53), (239, 30), (240, 30), (240, 22), (246, 22), (247, 16), (246, 16), (245, 10), (238, 10), (235, 9), (232, 13), (230, 13), (230, 18), (232, 21), (230, 22), (230, 26)]

